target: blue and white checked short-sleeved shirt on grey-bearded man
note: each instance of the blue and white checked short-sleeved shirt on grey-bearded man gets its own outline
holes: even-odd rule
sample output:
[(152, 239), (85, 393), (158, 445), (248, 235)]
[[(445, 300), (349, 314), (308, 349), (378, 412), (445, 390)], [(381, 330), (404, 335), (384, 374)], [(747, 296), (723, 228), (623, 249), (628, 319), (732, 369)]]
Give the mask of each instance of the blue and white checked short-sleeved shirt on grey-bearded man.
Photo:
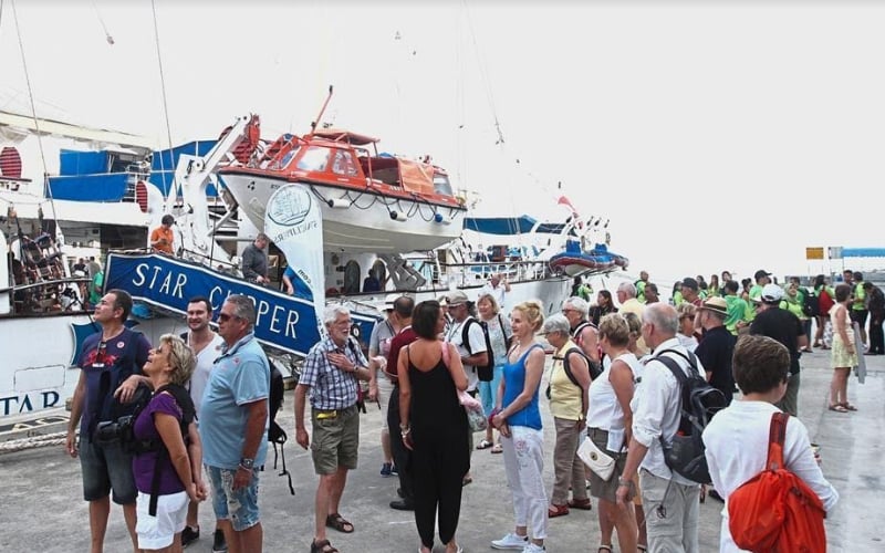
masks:
[(353, 338), (347, 338), (347, 344), (339, 346), (331, 337), (326, 337), (311, 347), (298, 383), (311, 388), (309, 398), (314, 409), (346, 409), (356, 403), (360, 384), (356, 375), (332, 365), (326, 356), (329, 353), (343, 353), (356, 366), (368, 365)]

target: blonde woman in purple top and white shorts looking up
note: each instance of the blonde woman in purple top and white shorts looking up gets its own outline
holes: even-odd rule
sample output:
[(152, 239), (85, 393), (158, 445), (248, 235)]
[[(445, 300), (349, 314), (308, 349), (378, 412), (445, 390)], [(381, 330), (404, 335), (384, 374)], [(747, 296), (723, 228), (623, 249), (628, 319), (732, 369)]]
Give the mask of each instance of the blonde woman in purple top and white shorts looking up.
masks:
[(196, 364), (180, 337), (164, 334), (144, 366), (154, 395), (133, 425), (138, 447), (133, 459), (135, 532), (142, 551), (181, 551), (188, 502), (206, 499), (202, 447), (184, 387)]

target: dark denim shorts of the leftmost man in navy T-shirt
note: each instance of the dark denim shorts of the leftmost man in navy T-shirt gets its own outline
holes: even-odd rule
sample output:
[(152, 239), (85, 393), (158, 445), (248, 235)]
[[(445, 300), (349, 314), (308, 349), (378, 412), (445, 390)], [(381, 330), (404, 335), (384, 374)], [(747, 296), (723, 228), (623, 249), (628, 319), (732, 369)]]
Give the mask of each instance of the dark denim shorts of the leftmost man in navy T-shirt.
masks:
[(135, 503), (138, 490), (132, 473), (132, 455), (119, 444), (97, 446), (88, 432), (80, 435), (80, 467), (83, 472), (83, 499), (96, 501), (107, 497), (118, 505)]

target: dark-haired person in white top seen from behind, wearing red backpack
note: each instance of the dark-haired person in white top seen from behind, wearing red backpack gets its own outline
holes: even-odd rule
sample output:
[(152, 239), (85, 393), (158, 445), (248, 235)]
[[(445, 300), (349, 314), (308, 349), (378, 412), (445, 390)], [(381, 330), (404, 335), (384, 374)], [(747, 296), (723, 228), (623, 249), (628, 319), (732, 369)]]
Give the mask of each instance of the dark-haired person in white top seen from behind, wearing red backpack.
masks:
[[(766, 468), (771, 415), (787, 392), (790, 354), (779, 342), (761, 335), (741, 336), (731, 368), (743, 394), (719, 411), (704, 430), (707, 465), (716, 490), (726, 500), (719, 535), (720, 552), (741, 551), (728, 529), (728, 498), (738, 487)], [(783, 444), (785, 468), (800, 477), (830, 511), (839, 493), (827, 482), (809, 441), (809, 431), (790, 417)]]

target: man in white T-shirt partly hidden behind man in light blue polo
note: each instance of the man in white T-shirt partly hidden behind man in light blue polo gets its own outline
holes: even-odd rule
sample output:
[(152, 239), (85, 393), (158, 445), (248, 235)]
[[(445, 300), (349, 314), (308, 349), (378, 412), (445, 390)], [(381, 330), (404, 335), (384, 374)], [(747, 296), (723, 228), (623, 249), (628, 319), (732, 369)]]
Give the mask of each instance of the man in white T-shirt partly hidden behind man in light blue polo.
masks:
[[(211, 320), (212, 303), (208, 298), (197, 296), (191, 298), (188, 301), (188, 332), (184, 333), (181, 338), (187, 343), (197, 358), (197, 365), (194, 367), (194, 374), (190, 376), (190, 383), (188, 384), (190, 398), (194, 400), (194, 407), (196, 408), (197, 413), (200, 410), (202, 392), (206, 389), (206, 383), (209, 382), (209, 374), (212, 372), (212, 367), (215, 366), (215, 359), (221, 355), (221, 349), (225, 346), (225, 338), (219, 336), (209, 327), (209, 321)], [(197, 422), (199, 424), (199, 421)], [(194, 501), (188, 504), (187, 524), (185, 525), (185, 530), (181, 532), (181, 545), (187, 545), (200, 536), (198, 507), (199, 503)], [(215, 530), (212, 551), (227, 551), (227, 545), (225, 544), (225, 534), (217, 525)]]

